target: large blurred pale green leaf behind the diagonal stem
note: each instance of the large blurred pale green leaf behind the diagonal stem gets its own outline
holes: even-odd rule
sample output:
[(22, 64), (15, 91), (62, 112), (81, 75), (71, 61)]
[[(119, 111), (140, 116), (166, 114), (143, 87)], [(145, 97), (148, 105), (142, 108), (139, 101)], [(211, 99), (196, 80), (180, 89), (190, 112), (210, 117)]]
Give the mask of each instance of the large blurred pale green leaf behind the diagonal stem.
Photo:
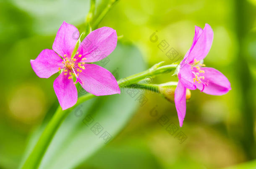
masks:
[[(145, 69), (141, 53), (131, 45), (118, 44), (115, 51), (105, 59), (107, 60), (99, 61), (97, 64), (100, 66), (106, 64), (104, 67), (116, 78), (126, 77)], [(78, 88), (78, 91), (80, 89)], [(84, 90), (80, 91), (84, 93)], [(70, 169), (81, 164), (106, 145), (105, 134), (109, 134), (113, 139), (123, 129), (138, 105), (136, 98), (139, 95), (140, 93), (131, 97), (123, 93), (101, 96), (78, 106), (58, 129), (44, 154), (39, 169)], [(86, 125), (85, 118), (93, 120)], [(96, 131), (94, 125), (101, 127), (102, 131), (99, 134), (93, 132)]]

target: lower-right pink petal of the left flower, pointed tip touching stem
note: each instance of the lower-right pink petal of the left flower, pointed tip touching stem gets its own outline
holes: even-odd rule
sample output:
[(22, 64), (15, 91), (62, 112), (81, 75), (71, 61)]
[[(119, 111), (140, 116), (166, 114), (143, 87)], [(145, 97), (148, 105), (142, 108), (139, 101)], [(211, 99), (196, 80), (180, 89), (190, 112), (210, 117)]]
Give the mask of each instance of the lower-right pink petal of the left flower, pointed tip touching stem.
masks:
[(108, 71), (95, 64), (85, 64), (85, 70), (79, 73), (81, 86), (96, 96), (120, 93), (115, 77)]

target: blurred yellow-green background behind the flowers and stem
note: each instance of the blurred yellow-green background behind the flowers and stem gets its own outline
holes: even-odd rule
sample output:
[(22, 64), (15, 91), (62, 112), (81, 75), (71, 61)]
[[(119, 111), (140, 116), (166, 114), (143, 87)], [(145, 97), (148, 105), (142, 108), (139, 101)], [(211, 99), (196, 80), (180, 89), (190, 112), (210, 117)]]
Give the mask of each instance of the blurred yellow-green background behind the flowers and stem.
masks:
[[(99, 14), (108, 1), (96, 2)], [(52, 87), (57, 75), (37, 77), (30, 59), (52, 48), (63, 20), (81, 30), (88, 11), (89, 0), (0, 0), (0, 169), (20, 166), (58, 106)], [(170, 64), (174, 60), (159, 43), (165, 40), (183, 57), (194, 26), (205, 23), (214, 41), (204, 63), (227, 76), (229, 93), (191, 91), (182, 128), (175, 105), (157, 93), (139, 93), (147, 100), (143, 105), (125, 92), (92, 99), (67, 117), (40, 168), (256, 168), (256, 0), (120, 0), (99, 27), (124, 38), (102, 66), (120, 79), (160, 61)], [(172, 80), (169, 73), (152, 83)], [(111, 135), (107, 144), (85, 124), (88, 114)], [(168, 125), (177, 131), (168, 132)]]

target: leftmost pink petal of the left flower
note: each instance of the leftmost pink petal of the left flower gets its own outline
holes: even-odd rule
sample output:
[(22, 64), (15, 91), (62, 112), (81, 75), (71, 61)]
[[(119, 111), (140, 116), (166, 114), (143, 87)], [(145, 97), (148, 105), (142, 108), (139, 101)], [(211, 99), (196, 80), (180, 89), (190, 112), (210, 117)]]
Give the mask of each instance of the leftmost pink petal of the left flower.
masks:
[(49, 78), (63, 66), (62, 59), (53, 50), (44, 49), (35, 60), (30, 60), (32, 69), (40, 78)]

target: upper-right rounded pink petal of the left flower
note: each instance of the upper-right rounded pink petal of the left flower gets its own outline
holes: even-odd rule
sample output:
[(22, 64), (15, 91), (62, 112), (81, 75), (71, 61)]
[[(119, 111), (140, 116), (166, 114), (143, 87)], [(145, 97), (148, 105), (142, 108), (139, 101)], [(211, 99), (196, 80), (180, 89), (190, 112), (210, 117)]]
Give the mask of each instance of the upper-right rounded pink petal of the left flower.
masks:
[(82, 58), (86, 58), (86, 63), (100, 61), (112, 53), (117, 41), (118, 36), (114, 29), (109, 27), (96, 29), (89, 33), (81, 42), (78, 53), (82, 57), (77, 58), (77, 61), (80, 61)]

